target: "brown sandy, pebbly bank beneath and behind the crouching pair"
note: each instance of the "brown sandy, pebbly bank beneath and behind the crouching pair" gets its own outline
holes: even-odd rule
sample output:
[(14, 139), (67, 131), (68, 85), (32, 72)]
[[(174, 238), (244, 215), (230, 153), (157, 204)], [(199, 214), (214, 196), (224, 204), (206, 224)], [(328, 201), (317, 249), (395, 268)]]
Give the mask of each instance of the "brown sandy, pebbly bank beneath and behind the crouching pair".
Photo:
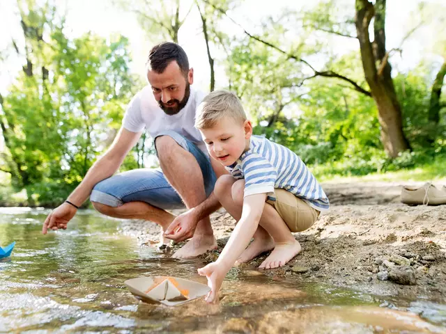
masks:
[[(261, 273), (445, 303), (446, 205), (404, 205), (399, 200), (401, 184), (323, 184), (330, 212), (321, 215), (309, 230), (295, 233), (302, 252), (289, 264)], [(438, 185), (443, 184), (446, 182)], [(208, 262), (217, 258), (235, 225), (224, 209), (211, 218), (219, 248), (202, 256)], [(154, 244), (159, 233), (157, 225), (147, 221), (123, 222), (122, 231), (136, 234), (141, 245)], [(181, 245), (175, 245), (167, 255)], [(240, 269), (255, 270), (267, 255)]]

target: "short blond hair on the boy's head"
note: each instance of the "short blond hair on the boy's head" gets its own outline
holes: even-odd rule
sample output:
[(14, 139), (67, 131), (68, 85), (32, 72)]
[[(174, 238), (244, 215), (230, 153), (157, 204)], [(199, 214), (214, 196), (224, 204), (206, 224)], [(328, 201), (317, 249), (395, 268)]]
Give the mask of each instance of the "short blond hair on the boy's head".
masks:
[(228, 90), (215, 90), (206, 97), (197, 109), (195, 127), (197, 129), (208, 129), (217, 124), (224, 116), (233, 120), (245, 122), (246, 113), (237, 95)]

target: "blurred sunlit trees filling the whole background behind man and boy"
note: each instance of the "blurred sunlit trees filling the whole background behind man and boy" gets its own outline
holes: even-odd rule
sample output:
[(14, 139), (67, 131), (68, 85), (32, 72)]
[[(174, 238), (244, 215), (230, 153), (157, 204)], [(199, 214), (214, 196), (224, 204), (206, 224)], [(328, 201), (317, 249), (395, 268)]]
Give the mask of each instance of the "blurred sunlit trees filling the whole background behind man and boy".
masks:
[[(296, 4), (254, 28), (234, 18), (243, 2), (114, 0), (110, 6), (134, 15), (146, 35), (141, 43), (150, 45), (181, 45), (193, 21), (205, 46), (208, 63), (199, 65), (209, 69), (208, 90), (236, 92), (255, 133), (291, 148), (319, 177), (427, 165), (440, 166), (444, 176), (443, 4), (418, 1), (399, 46), (389, 47), (385, 0)], [(0, 95), (0, 170), (12, 191), (26, 192), (21, 204), (56, 205), (112, 143), (144, 73), (130, 70), (127, 37), (67, 33), (57, 1), (16, 0), (15, 8), (21, 38), (0, 50), (0, 64), (15, 56), (22, 70)], [(426, 26), (437, 32), (428, 50), (436, 57), (409, 70), (392, 66)], [(121, 170), (150, 166), (151, 154), (144, 135)], [(0, 202), (8, 203), (1, 187)]]

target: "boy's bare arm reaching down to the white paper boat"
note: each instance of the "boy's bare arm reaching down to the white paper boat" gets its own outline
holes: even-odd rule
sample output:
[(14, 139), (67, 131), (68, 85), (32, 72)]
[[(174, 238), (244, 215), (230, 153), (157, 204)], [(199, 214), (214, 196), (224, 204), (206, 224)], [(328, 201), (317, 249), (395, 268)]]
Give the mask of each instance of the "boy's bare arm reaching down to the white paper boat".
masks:
[(243, 253), (243, 250), (247, 248), (254, 232), (256, 232), (263, 213), (263, 207), (265, 207), (265, 200), (266, 193), (250, 195), (243, 200), (242, 217), (238, 221), (236, 228), (234, 228), (229, 241), (224, 246), (217, 261), (198, 269), (201, 276), (208, 278), (208, 285), (211, 290), (206, 297), (206, 301), (209, 303), (216, 299), (224, 276), (226, 276), (226, 273)]

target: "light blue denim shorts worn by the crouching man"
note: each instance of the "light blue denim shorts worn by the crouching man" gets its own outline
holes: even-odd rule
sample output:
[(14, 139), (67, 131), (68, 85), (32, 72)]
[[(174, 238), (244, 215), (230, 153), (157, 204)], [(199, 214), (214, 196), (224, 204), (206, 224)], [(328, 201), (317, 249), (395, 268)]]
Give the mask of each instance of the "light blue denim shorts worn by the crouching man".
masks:
[[(158, 136), (170, 136), (197, 159), (203, 174), (206, 196), (209, 196), (214, 190), (217, 180), (209, 157), (197, 148), (197, 145), (176, 132), (162, 132)], [(128, 170), (102, 180), (94, 186), (90, 200), (110, 207), (120, 207), (124, 203), (133, 201), (146, 202), (160, 209), (182, 209), (185, 207), (160, 168)]]

